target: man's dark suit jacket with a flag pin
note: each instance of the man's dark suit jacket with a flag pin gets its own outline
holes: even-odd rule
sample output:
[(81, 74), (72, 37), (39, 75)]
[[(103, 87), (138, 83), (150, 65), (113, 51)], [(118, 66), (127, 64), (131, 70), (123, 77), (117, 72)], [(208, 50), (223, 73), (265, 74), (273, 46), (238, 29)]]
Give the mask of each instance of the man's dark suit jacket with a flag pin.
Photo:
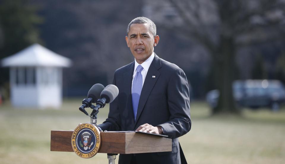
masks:
[[(178, 137), (191, 128), (185, 73), (155, 54), (143, 84), (136, 120), (132, 109), (133, 73), (134, 62), (115, 71), (113, 84), (118, 87), (119, 94), (110, 104), (108, 118), (98, 126), (103, 131), (134, 131), (145, 123), (162, 126), (164, 135), (172, 137), (172, 152), (136, 154), (137, 163), (181, 163)], [(131, 158), (132, 154), (121, 154), (119, 163), (128, 164)]]

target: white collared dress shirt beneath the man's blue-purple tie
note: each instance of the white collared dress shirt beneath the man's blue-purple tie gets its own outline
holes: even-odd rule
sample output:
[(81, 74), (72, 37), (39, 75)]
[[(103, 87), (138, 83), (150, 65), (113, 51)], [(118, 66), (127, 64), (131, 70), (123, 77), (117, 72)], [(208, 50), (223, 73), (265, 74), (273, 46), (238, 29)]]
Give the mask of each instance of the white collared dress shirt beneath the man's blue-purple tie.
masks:
[[(145, 82), (145, 77), (146, 77), (146, 74), (148, 73), (148, 68), (151, 65), (151, 62), (153, 61), (153, 59), (154, 59), (154, 52), (152, 52), (151, 56), (141, 64), (141, 66), (143, 67), (143, 70), (141, 72), (143, 76), (143, 83)], [(139, 65), (140, 64), (137, 63), (136, 59), (134, 59), (134, 74), (133, 74), (133, 79), (132, 79), (132, 90), (133, 90), (134, 77), (137, 74), (137, 66)]]

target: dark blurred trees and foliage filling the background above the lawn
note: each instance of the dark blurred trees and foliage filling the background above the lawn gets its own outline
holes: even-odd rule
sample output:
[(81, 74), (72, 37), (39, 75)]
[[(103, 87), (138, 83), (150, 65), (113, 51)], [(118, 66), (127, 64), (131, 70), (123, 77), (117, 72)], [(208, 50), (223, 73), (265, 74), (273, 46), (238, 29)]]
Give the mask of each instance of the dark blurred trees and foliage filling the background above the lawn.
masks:
[[(64, 70), (64, 96), (84, 96), (94, 83), (110, 84), (114, 71), (134, 60), (126, 27), (145, 16), (161, 38), (156, 54), (185, 71), (192, 98), (219, 89), (213, 113), (239, 113), (233, 80), (285, 82), (284, 5), (284, 0), (2, 0), (0, 58), (40, 43), (73, 61)], [(0, 85), (7, 90), (8, 69), (0, 69)]]

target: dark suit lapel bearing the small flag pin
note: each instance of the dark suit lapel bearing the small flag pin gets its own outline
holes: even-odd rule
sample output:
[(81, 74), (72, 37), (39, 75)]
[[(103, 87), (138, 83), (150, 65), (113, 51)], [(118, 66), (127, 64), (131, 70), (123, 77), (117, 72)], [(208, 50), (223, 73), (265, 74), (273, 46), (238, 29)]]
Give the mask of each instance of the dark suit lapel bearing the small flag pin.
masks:
[[(143, 84), (142, 92), (140, 93), (140, 101), (137, 108), (137, 119), (135, 120), (135, 125), (137, 123), (137, 120), (140, 118), (140, 114), (143, 111), (143, 108), (145, 106), (145, 103), (148, 99), (149, 94), (151, 93), (151, 90), (153, 89), (154, 84), (156, 83), (157, 79), (159, 78), (159, 71), (158, 69), (161, 67), (161, 61), (160, 58), (155, 54), (155, 57), (153, 61), (151, 62), (150, 67), (148, 68), (148, 73), (145, 77), (145, 82)], [(155, 76), (155, 78), (153, 78)]]

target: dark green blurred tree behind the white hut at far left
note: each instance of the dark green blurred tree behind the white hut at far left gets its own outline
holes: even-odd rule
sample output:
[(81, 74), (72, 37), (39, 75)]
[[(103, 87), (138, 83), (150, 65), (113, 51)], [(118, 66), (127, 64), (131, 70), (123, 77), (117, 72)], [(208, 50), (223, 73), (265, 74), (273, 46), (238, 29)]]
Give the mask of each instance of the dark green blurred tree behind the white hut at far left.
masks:
[[(0, 60), (33, 43), (41, 43), (37, 25), (42, 18), (26, 0), (0, 1)], [(0, 67), (0, 85), (8, 81), (8, 70)]]

